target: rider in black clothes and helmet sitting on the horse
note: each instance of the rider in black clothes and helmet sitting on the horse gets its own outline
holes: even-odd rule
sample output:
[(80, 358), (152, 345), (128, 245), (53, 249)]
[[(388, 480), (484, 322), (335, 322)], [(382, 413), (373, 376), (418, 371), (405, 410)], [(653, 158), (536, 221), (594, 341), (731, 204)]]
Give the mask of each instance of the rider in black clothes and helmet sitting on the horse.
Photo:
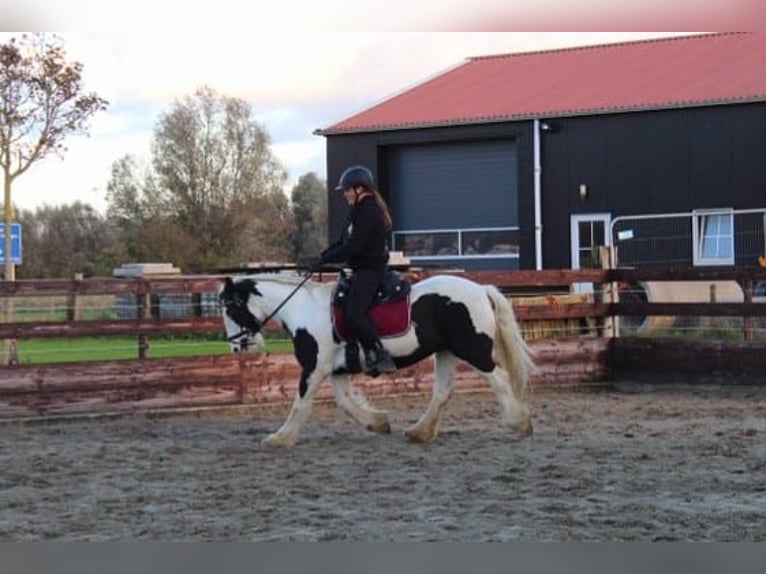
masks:
[(386, 274), (391, 215), (377, 191), (372, 172), (362, 165), (347, 168), (335, 187), (351, 207), (340, 238), (322, 252), (319, 264), (345, 263), (353, 271), (346, 299), (346, 323), (364, 349), (366, 372), (373, 377), (396, 370), (369, 316), (373, 298)]

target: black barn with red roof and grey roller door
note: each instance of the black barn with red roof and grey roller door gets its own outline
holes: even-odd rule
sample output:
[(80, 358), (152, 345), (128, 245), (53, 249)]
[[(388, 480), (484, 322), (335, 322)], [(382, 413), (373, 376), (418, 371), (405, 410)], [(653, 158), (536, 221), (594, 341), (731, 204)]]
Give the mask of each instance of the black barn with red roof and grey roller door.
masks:
[[(470, 57), (316, 133), (331, 183), (373, 170), (415, 262), (578, 269), (620, 240), (651, 263), (757, 265), (764, 62), (760, 33)], [(330, 192), (332, 236), (344, 214)]]

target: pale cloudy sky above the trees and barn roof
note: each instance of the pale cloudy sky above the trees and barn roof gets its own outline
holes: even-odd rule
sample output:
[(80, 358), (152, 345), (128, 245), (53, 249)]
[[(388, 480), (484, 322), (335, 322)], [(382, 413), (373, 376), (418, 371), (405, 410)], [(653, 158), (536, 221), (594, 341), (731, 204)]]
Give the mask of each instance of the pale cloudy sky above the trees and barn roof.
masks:
[[(748, 1), (729, 0), (726, 13), (730, 14), (731, 6), (738, 2), (747, 5)], [(695, 0), (678, 3), (702, 10)], [(271, 8), (258, 6), (263, 2), (251, 4), (217, 0), (216, 11), (185, 10), (181, 21), (170, 3), (166, 7), (160, 0), (152, 4), (133, 0), (124, 6), (120, 2), (79, 0), (79, 8), (68, 11), (63, 8), (70, 6), (67, 3), (28, 0), (23, 8), (11, 8), (10, 13), (3, 8), (5, 13), (0, 11), (0, 17), (6, 27), (13, 23), (31, 31), (98, 30), (55, 33), (62, 39), (67, 57), (83, 64), (84, 91), (96, 92), (109, 101), (108, 109), (92, 119), (87, 137), (71, 136), (63, 157), (48, 157), (19, 177), (13, 188), (14, 204), (35, 209), (79, 200), (105, 212), (112, 163), (126, 154), (148, 161), (159, 115), (169, 111), (175, 100), (203, 85), (250, 104), (271, 136), (274, 154), (289, 174), (289, 190), (307, 172), (326, 177), (325, 138), (314, 135), (315, 130), (466, 58), (690, 33), (493, 31), (525, 22), (527, 27), (542, 25), (546, 10), (551, 27), (563, 27), (567, 18), (562, 11), (568, 13), (567, 6), (572, 5), (565, 0), (539, 0), (537, 4), (543, 7), (539, 13), (527, 9), (522, 16), (518, 10), (509, 12), (516, 5), (514, 0), (473, 0), (468, 4), (387, 0), (374, 3), (376, 8), (372, 9), (346, 0), (283, 0)], [(612, 4), (582, 0), (578, 14), (588, 13), (590, 7), (591, 13), (606, 13), (607, 18)], [(716, 6), (723, 7), (719, 0), (704, 4), (707, 21), (693, 23), (707, 24), (708, 28), (727, 23), (715, 13)], [(474, 8), (468, 10), (469, 5)], [(647, 5), (660, 4), (645, 0), (640, 4), (644, 12)], [(406, 20), (397, 8), (406, 8)], [(81, 14), (85, 16), (78, 17)], [(666, 16), (664, 27), (673, 23), (682, 26), (680, 21), (674, 22), (672, 13)], [(612, 16), (613, 28), (619, 29), (619, 21), (630, 18), (641, 23), (635, 20), (638, 17), (623, 7), (621, 15)], [(572, 29), (577, 29), (579, 18), (569, 12)], [(661, 27), (656, 15), (654, 20), (656, 27)], [(608, 18), (603, 23), (608, 24)], [(426, 27), (445, 31), (409, 31)], [(462, 27), (481, 31), (461, 31)], [(2, 32), (0, 40), (7, 41), (14, 34)]]

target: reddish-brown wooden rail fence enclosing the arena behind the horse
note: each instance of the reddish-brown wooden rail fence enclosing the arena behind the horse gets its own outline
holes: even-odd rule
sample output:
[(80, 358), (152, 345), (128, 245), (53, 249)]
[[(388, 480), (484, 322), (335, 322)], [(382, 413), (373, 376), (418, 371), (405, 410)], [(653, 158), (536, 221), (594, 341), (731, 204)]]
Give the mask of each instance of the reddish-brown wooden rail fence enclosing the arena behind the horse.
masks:
[[(417, 281), (425, 272), (411, 274)], [(675, 314), (737, 316), (746, 322), (766, 316), (766, 305), (754, 302), (752, 290), (766, 279), (766, 270), (704, 269), (679, 271), (551, 270), (461, 273), (494, 284), (512, 297), (517, 319), (535, 353), (533, 385), (538, 387), (608, 387), (614, 377), (640, 378), (680, 373), (730, 374), (747, 382), (766, 380), (766, 361), (751, 341), (752, 322), (744, 341), (690, 341), (614, 337), (616, 316)], [(734, 280), (743, 285), (742, 303), (620, 302), (618, 286), (644, 280)], [(573, 284), (592, 283), (587, 297), (572, 297)], [(221, 355), (174, 359), (151, 358), (151, 337), (186, 333), (220, 333), (220, 315), (162, 318), (153, 313), (159, 294), (215, 292), (219, 276), (169, 278), (83, 279), (0, 282), (0, 298), (65, 296), (68, 308), (78, 298), (121, 295), (135, 298), (130, 319), (83, 320), (74, 311), (63, 321), (6, 322), (0, 339), (64, 338), (85, 335), (136, 337), (137, 358), (119, 361), (8, 365), (0, 367), (0, 418), (132, 412), (146, 409), (253, 405), (292, 400), (298, 369), (291, 356)], [(750, 296), (748, 297), (748, 290)], [(192, 300), (196, 300), (192, 298)], [(554, 323), (565, 329), (536, 328)], [(748, 339), (748, 332), (750, 339)], [(562, 335), (562, 333), (564, 333)], [(706, 368), (707, 365), (707, 368)], [(743, 370), (744, 369), (744, 370)], [(745, 376), (746, 375), (746, 376)], [(458, 388), (484, 388), (465, 367), (458, 370)], [(430, 361), (378, 379), (358, 377), (369, 396), (422, 393), (432, 384)], [(326, 386), (319, 398), (330, 398)]]

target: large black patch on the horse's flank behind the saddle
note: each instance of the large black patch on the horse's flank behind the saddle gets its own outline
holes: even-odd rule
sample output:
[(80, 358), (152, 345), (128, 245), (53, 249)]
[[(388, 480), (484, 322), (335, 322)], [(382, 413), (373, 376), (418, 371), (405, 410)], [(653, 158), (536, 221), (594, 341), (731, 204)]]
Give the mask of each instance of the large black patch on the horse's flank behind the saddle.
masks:
[(492, 339), (476, 331), (463, 303), (444, 295), (423, 295), (412, 305), (412, 323), (418, 348), (406, 357), (395, 357), (397, 368), (413, 365), (438, 351), (450, 351), (485, 373), (495, 368)]

